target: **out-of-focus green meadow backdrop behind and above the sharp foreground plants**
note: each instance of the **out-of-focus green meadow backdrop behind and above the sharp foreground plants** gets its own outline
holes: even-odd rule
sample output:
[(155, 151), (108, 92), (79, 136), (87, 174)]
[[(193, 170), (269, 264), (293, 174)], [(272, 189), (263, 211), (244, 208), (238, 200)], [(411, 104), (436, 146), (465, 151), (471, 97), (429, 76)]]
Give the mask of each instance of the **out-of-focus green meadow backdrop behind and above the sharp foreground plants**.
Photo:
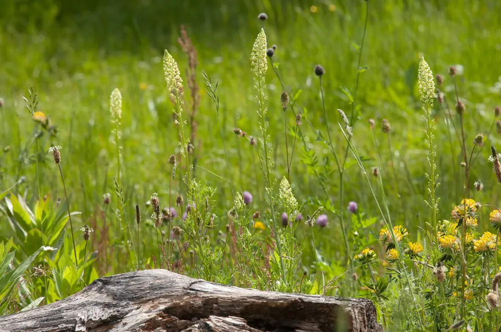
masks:
[[(285, 84), (294, 93), (301, 91), (298, 105), (321, 131), (325, 130), (325, 123), (321, 116), (318, 77), (313, 69), (318, 63), (325, 67), (323, 81), (333, 140), (337, 142), (338, 153), (344, 154), (346, 143), (337, 126), (340, 117), (336, 109), (349, 113), (351, 107), (342, 87), (353, 93), (358, 61), (354, 44), (361, 42), (366, 14), (363, 0), (2, 0), (0, 8), (0, 97), (5, 100), (0, 114), (0, 146), (10, 146), (10, 150), (0, 154), (0, 189), (3, 191), (20, 176), (25, 176), (26, 180), (16, 187), (16, 192), (26, 195), (28, 201), (37, 199), (34, 149), (29, 145), (32, 124), (21, 97), (33, 85), (39, 94), (39, 110), (58, 128), (57, 136), (44, 136), (42, 148), (46, 151), (51, 144), (62, 146), (62, 166), (71, 208), (82, 211), (77, 219), (78, 227), (84, 223), (99, 224), (96, 220), (102, 195), (114, 190), (116, 156), (109, 95), (115, 87), (123, 96), (122, 184), (130, 213), (136, 202), (143, 206), (152, 192), (158, 192), (164, 202), (168, 199), (167, 158), (176, 153), (178, 145), (161, 59), (163, 50), (168, 49), (186, 79), (186, 56), (177, 43), (181, 24), (186, 27), (199, 60), (197, 82), (201, 87), (201, 102), (195, 115), (198, 125), (194, 153), (198, 165), (218, 176), (201, 168), (195, 168), (195, 175), (219, 188), (218, 229), (227, 223), (225, 213), (232, 201), (227, 182), (219, 177), (227, 177), (224, 153), (215, 109), (203, 90), (201, 70), (219, 81), (221, 120), (233, 185), (237, 190), (252, 192), (255, 208), (261, 209), (262, 174), (255, 151), (247, 141), (232, 133), (233, 128), (239, 127), (250, 135), (259, 134), (249, 58), (262, 26), (257, 18), (260, 12), (268, 14), (268, 40), (277, 45), (276, 61)], [(501, 103), (498, 69), (501, 2), (369, 0), (368, 10), (361, 62), (368, 70), (360, 77), (356, 100), (360, 120), (354, 127), (354, 140), (359, 152), (367, 158), (366, 169), (376, 166), (375, 145), (367, 123), (369, 118), (374, 118), (383, 160), (381, 174), (393, 222), (403, 223), (405, 212), (406, 224), (415, 239), (419, 227), (430, 218), (423, 202), (427, 195), (424, 172), (428, 166), (417, 92), (419, 59), (424, 55), (433, 72), (445, 76), (444, 89), (454, 116), (453, 85), (446, 73), (450, 65), (457, 66), (459, 96), (466, 104), (466, 140), (471, 142), (478, 132), (487, 134), (494, 121), (492, 109)], [(276, 161), (274, 175), (281, 178), (286, 174), (282, 89), (271, 69), (267, 82), (268, 120)], [(435, 105), (434, 117), (441, 182), (439, 218), (448, 218), (450, 209), (462, 197), (460, 148), (452, 133), (454, 148), (451, 151), (447, 126), (438, 105)], [(391, 171), (386, 134), (380, 130), (383, 118), (391, 123), (389, 135), (395, 176)], [(294, 125), (293, 115), (289, 123), (290, 127)], [(315, 132), (306, 124), (302, 128), (321, 165), (327, 165), (322, 167), (329, 194), (337, 205), (339, 183), (334, 161), (327, 149), (315, 141)], [(495, 127), (488, 138), (496, 145), (501, 142)], [(289, 136), (289, 143), (292, 139), (293, 136)], [(484, 183), (485, 193), (474, 192), (475, 199), (496, 204), (499, 193), (492, 190), (495, 183), (491, 164), (486, 161), (489, 145), (487, 143), (476, 159), (470, 179), (471, 183), (478, 179)], [(31, 147), (27, 149), (27, 146)], [(306, 203), (306, 212), (311, 213), (316, 199), (325, 201), (326, 197), (311, 170), (301, 161), (303, 151), (298, 140), (292, 186), (298, 199)], [(39, 158), (43, 161), (40, 167), (42, 194), (50, 193), (54, 199), (61, 197), (62, 185), (51, 156), (44, 153)], [(378, 216), (356, 164), (345, 176), (346, 203), (357, 201), (365, 215)], [(179, 178), (177, 176), (177, 180)], [(397, 197), (396, 182), (404, 204)], [(178, 193), (182, 193), (182, 187), (176, 183), (173, 196)], [(116, 208), (114, 195), (112, 202)], [(343, 213), (347, 211), (343, 209)], [(487, 220), (486, 215), (482, 215)], [(2, 221), (5, 219), (0, 215), (0, 230), (3, 237), (8, 238), (10, 228)], [(486, 221), (480, 222), (480, 228), (487, 226)], [(374, 227), (369, 243), (377, 242), (378, 230)], [(336, 257), (344, 251), (341, 241), (332, 240), (339, 238), (338, 218), (329, 214), (328, 227), (318, 228), (316, 232), (320, 236), (319, 251), (327, 265), (336, 266)], [(349, 229), (350, 243), (357, 242), (353, 232), (354, 229)], [(356, 249), (356, 244), (353, 245)], [(313, 258), (311, 252), (308, 254)]]

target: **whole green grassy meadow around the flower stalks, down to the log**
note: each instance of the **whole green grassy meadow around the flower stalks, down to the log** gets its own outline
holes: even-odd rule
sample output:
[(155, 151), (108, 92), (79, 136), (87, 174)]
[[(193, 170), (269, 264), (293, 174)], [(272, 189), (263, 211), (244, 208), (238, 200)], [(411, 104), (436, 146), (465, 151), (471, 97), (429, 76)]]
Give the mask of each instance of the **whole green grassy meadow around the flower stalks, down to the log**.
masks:
[[(71, 286), (68, 286), (66, 295), (79, 290), (82, 282), (88, 283), (98, 276), (134, 270), (137, 260), (129, 247), (131, 244), (139, 249), (141, 269), (146, 264), (153, 266), (152, 256), (160, 259), (158, 232), (154, 227), (154, 217), (149, 217), (154, 210), (147, 202), (154, 192), (158, 193), (161, 207), (168, 207), (169, 201), (174, 206), (178, 194), (182, 194), (185, 200), (188, 196), (186, 184), (182, 182), (186, 159), (179, 154), (178, 129), (173, 116), (175, 103), (170, 100), (162, 68), (163, 51), (167, 49), (177, 61), (185, 83), (184, 114), (191, 114), (192, 98), (185, 73), (187, 57), (177, 42), (179, 26), (184, 24), (199, 61), (196, 82), (200, 87), (200, 103), (193, 117), (196, 125), (192, 125), (190, 116), (186, 118), (183, 115), (188, 120), (186, 135), (192, 138), (194, 146), (189, 157), (190, 163), (194, 165), (191, 175), (217, 188), (210, 199), (212, 211), (216, 215), (210, 240), (213, 248), (223, 248), (224, 244), (227, 254), (223, 258), (224, 266), (221, 265), (223, 269), (207, 275), (219, 275), (220, 278), (214, 277), (214, 280), (241, 286), (311, 293), (333, 280), (324, 288), (326, 294), (374, 298), (380, 320), (383, 321), (383, 317), (387, 320), (387, 330), (422, 330), (423, 327), (426, 330), (445, 330), (460, 319), (466, 320), (462, 328), (467, 325), (475, 331), (499, 328), (499, 312), (493, 313), (485, 300), (490, 280), (498, 272), (495, 270), (497, 249), (489, 258), (472, 256), (467, 262), (471, 276), (477, 275), (476, 283), (469, 282), (470, 287), (474, 284), (472, 291), (475, 299), (465, 301), (462, 307), (455, 307), (450, 302), (447, 303), (449, 305), (440, 306), (437, 303), (443, 303), (446, 294), (457, 293), (456, 288), (461, 288), (461, 281), (457, 282), (456, 288), (452, 282), (446, 282), (447, 287), (450, 287), (446, 289), (433, 279), (433, 268), (412, 263), (410, 259), (403, 262), (407, 268), (398, 265), (398, 276), (391, 274), (388, 265), (383, 263), (385, 246), (380, 244), (379, 231), (385, 226), (384, 219), (391, 219), (393, 225), (405, 226), (409, 240), (420, 242), (424, 247), (423, 253), (426, 254), (422, 254), (419, 259), (432, 267), (444, 254), (440, 251), (443, 248), (432, 238), (436, 227), (432, 229), (432, 209), (424, 202), (430, 199), (425, 176), (430, 166), (427, 161), (429, 148), (425, 143), (426, 120), (423, 118), (418, 91), (418, 67), (422, 56), (434, 75), (441, 74), (444, 77), (443, 84), (437, 87), (445, 93), (452, 114), (452, 122), (446, 120), (448, 112), (444, 110), (445, 103), (442, 107), (435, 99), (431, 118), (436, 125), (435, 163), (440, 182), (435, 192), (436, 197), (440, 197), (436, 219), (451, 218), (450, 211), (463, 197), (471, 197), (494, 207), (498, 205), (500, 184), (487, 158), (491, 154), (491, 145), (501, 149), (501, 125), (497, 127), (494, 124), (496, 118), (493, 111), (494, 106), (501, 104), (501, 71), (497, 69), (501, 50), (501, 3), (469, 0), (311, 3), (221, 0), (204, 4), (190, 1), (179, 1), (183, 4), (130, 1), (115, 6), (112, 2), (95, 6), (89, 4), (89, 8), (81, 8), (78, 5), (58, 5), (57, 1), (13, 1), (6, 3), (4, 13), (0, 14), (0, 97), (4, 100), (0, 108), (0, 148), (3, 148), (0, 151), (0, 192), (9, 189), (22, 177), (23, 180), (5, 195), (11, 199), (14, 196), (16, 200), (17, 195), (24, 197), (30, 209), (35, 210), (36, 221), (30, 227), (37, 228), (31, 237), (20, 231), (13, 220), (24, 219), (24, 222), (28, 222), (29, 213), (19, 212), (26, 211), (26, 207), (20, 202), (18, 212), (9, 212), (9, 204), (3, 198), (0, 203), (0, 240), (7, 243), (13, 237), (13, 249), (16, 249), (13, 266), (36, 252), (42, 244), (47, 245), (51, 235), (45, 234), (42, 239), (42, 233), (38, 230), (44, 222), (43, 216), (51, 215), (52, 218), (58, 213), (66, 213), (59, 168), (47, 152), (53, 145), (62, 146), (61, 167), (70, 210), (81, 212), (75, 214), (72, 220), (78, 249), (84, 250), (87, 255), (92, 253), (85, 272), (75, 266), (74, 274), (78, 272), (84, 276), (80, 281), (78, 276), (68, 281)], [(260, 12), (266, 12), (268, 20), (259, 20)], [(360, 73), (356, 88), (359, 71), (357, 48), (362, 42), (366, 14), (368, 20), (360, 66), (367, 68), (360, 70), (363, 72)], [(260, 169), (258, 149), (250, 145), (248, 139), (233, 133), (233, 129), (240, 128), (248, 135), (263, 136), (259, 127), (260, 117), (256, 113), (259, 104), (255, 97), (250, 63), (253, 43), (263, 22), (269, 45), (277, 46), (273, 62), (286, 89), (296, 99), (292, 109), (286, 112), (285, 120), (288, 125), (289, 157), (296, 128), (293, 112), (300, 110), (303, 113), (300, 126), (303, 136), (297, 137), (291, 161), (292, 191), (299, 204), (304, 204), (302, 214), (305, 217), (312, 215), (319, 206), (324, 206), (322, 213), (328, 217), (327, 226), (315, 225), (313, 232), (304, 222), (295, 227), (293, 235), (297, 243), (292, 245), (294, 249), (291, 250), (301, 255), (297, 257), (297, 268), (290, 275), (289, 282), (295, 285), (291, 288), (266, 286), (263, 280), (247, 282), (242, 276), (245, 273), (239, 270), (239, 258), (236, 256), (240, 244), (234, 238), (238, 238), (238, 231), (235, 233), (232, 226), (232, 230), (226, 232), (226, 224), (231, 222), (228, 211), (234, 205), (231, 187), (235, 192), (247, 190), (253, 194), (253, 202), (246, 207), (245, 213), (249, 217), (254, 211), (261, 211), (261, 220), (267, 228), (260, 233), (258, 231), (259, 235), (252, 243), (268, 243), (268, 246), (263, 244), (266, 253), (273, 252), (270, 245), (274, 245), (270, 243), (274, 241), (271, 239), (276, 231), (273, 218), (265, 216), (265, 211), (271, 215), (277, 207), (277, 217), (284, 211), (278, 205), (272, 207), (265, 199), (265, 178)], [(324, 120), (319, 77), (314, 72), (317, 64), (325, 68), (322, 84), (327, 122)], [(451, 65), (457, 69), (455, 80), (448, 74)], [(224, 146), (214, 102), (205, 91), (202, 70), (214, 82), (218, 81)], [(461, 118), (454, 106), (454, 81), (457, 83), (459, 100), (465, 104)], [(57, 128), (57, 133), (43, 128), (40, 121), (32, 121), (22, 97), (29, 98), (30, 86), (38, 94), (36, 110), (49, 118), (47, 121)], [(271, 160), (275, 165), (271, 175), (278, 179), (273, 190), (278, 195), (280, 180), (287, 176), (287, 152), (284, 112), (280, 100), (283, 87), (270, 61), (266, 86), (266, 120), (270, 135), (268, 148), (273, 149)], [(122, 94), (119, 185), (123, 188), (123, 210), (114, 185), (118, 165), (113, 143), (110, 94), (115, 88), (119, 88)], [(355, 95), (353, 106), (350, 96)], [(344, 110), (350, 121), (355, 122), (352, 142), (368, 171), (368, 179), (377, 200), (351, 149), (347, 148), (340, 129), (344, 123), (337, 109)], [(375, 120), (374, 130), (368, 123), (371, 118)], [(391, 123), (388, 134), (381, 130), (383, 119)], [(33, 123), (36, 125), (35, 131), (41, 133), (36, 139), (37, 146), (33, 139)], [(327, 126), (332, 148), (329, 147)], [(192, 130), (193, 127), (195, 130)], [(485, 145), (477, 146), (474, 157), (470, 158), (473, 138), (477, 133), (483, 133)], [(469, 195), (464, 189), (465, 169), (460, 165), (464, 161), (461, 150), (463, 141), (467, 150), (468, 186), (471, 187)], [(261, 142), (258, 146), (262, 146)], [(347, 153), (342, 195), (339, 169), (333, 152), (341, 160)], [(380, 177), (374, 177), (370, 171), (372, 167), (378, 166), (378, 153)], [(171, 165), (168, 159), (171, 154), (178, 158), (178, 169), (169, 186)], [(312, 160), (316, 161), (315, 166), (312, 166)], [(481, 191), (475, 190), (475, 181), (483, 183)], [(44, 209), (40, 207), (41, 203), (35, 208), (39, 192), (40, 196), (48, 197), (47, 210), (40, 213), (36, 210)], [(105, 193), (111, 193), (109, 205), (103, 204)], [(62, 199), (62, 203), (56, 206), (58, 198)], [(349, 201), (358, 203), (357, 213), (348, 211)], [(134, 222), (136, 203), (142, 214), (139, 245)], [(491, 210), (492, 207), (486, 206), (476, 212), (478, 226), (475, 237), (484, 231), (496, 233), (489, 224)], [(123, 211), (127, 213), (131, 232), (126, 226)], [(178, 208), (177, 213), (182, 215), (181, 212)], [(344, 219), (344, 230), (341, 217)], [(105, 219), (108, 229), (104, 227)], [(84, 224), (94, 228), (88, 243), (82, 240), (79, 230)], [(182, 226), (183, 222), (176, 218), (172, 224)], [(167, 237), (169, 226), (163, 227)], [(458, 230), (461, 230), (460, 225)], [(346, 245), (342, 240), (343, 231), (347, 234), (350, 257), (347, 257)], [(61, 233), (60, 238), (54, 241), (54, 246), (61, 248), (56, 252), (65, 250), (66, 256), (54, 252), (48, 254), (51, 257), (46, 259), (51, 262), (47, 264), (51, 268), (47, 275), (52, 275), (52, 267), (59, 266), (58, 259), (73, 259), (70, 233), (68, 224), (64, 235)], [(311, 235), (315, 238), (315, 250)], [(229, 239), (228, 245), (226, 239)], [(177, 244), (175, 246), (177, 250)], [(371, 282), (370, 274), (353, 260), (353, 255), (365, 247), (373, 248), (380, 257), (372, 267), (372, 272), (379, 275), (379, 280), (388, 280), (389, 285), (383, 293), (367, 290), (365, 282)], [(180, 247), (178, 253), (182, 260)], [(82, 259), (85, 254), (80, 254)], [(451, 256), (451, 261), (459, 261), (457, 252)], [(37, 253), (30, 266), (39, 266), (43, 260), (43, 254)], [(296, 257), (292, 260), (296, 261)], [(188, 268), (192, 265), (182, 261), (186, 263), (186, 273), (197, 275)], [(453, 265), (451, 261), (446, 263), (449, 270)], [(266, 267), (266, 264), (263, 266)], [(46, 292), (52, 294), (47, 295), (44, 302), (54, 301), (65, 294), (64, 291), (58, 294), (61, 289), (57, 288), (57, 280), (51, 286), (51, 277), (49, 280), (32, 277), (31, 267), (24, 274), (29, 280), (25, 292), (20, 290), (16, 293), (11, 289), (9, 296), (5, 297), (8, 300), (2, 301), (4, 314), (19, 310), (36, 298), (45, 296)], [(280, 270), (276, 266), (268, 267), (272, 274)], [(64, 271), (64, 266), (62, 268)], [(400, 268), (409, 272), (403, 273)], [(297, 286), (303, 271), (308, 272), (312, 283), (308, 290)], [(352, 280), (352, 273), (358, 274), (358, 280)], [(402, 299), (399, 299), (400, 290), (407, 289), (408, 284), (402, 281), (405, 280), (403, 275), (407, 273), (412, 283), (410, 288), (414, 288), (414, 295), (409, 296), (417, 296), (411, 302), (418, 303), (423, 299), (426, 305), (411, 305), (411, 311), (415, 314), (406, 320), (402, 318), (403, 309), (395, 303), (397, 299), (398, 303)], [(319, 274), (321, 276), (315, 281)], [(256, 273), (250, 273), (247, 277), (249, 275), (260, 279)], [(280, 279), (280, 273), (278, 275)], [(45, 286), (46, 283), (49, 285)], [(434, 291), (434, 287), (439, 289), (436, 292), (443, 298), (428, 295)], [(405, 291), (402, 290), (402, 293)], [(460, 297), (458, 302), (461, 303)]]

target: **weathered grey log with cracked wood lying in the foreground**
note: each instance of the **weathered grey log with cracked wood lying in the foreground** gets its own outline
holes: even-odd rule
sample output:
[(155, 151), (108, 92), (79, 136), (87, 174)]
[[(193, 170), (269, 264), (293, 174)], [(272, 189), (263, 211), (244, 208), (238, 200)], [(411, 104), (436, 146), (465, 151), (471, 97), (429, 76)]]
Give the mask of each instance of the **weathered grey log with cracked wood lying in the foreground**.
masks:
[(63, 300), (0, 317), (0, 331), (382, 331), (365, 298), (227, 286), (163, 269), (96, 279)]

